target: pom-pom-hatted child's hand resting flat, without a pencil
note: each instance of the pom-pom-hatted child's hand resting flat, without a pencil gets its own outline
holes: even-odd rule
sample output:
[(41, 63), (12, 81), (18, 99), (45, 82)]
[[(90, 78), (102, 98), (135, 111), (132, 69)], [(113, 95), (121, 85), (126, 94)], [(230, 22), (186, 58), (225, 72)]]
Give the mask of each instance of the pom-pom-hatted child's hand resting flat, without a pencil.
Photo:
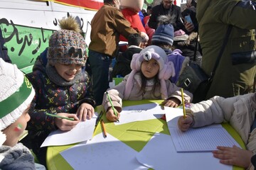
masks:
[(91, 119), (94, 115), (94, 108), (88, 103), (82, 103), (76, 113), (79, 120), (85, 121), (87, 118)]

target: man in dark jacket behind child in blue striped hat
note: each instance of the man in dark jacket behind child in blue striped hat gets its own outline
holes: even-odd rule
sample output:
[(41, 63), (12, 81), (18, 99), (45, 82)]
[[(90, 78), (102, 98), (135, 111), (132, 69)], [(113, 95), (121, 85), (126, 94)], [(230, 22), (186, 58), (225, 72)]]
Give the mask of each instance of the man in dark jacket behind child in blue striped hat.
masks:
[(181, 23), (181, 7), (173, 4), (174, 0), (163, 0), (161, 4), (152, 8), (152, 13), (149, 18), (149, 27), (156, 29), (158, 26), (158, 17), (162, 15), (171, 16), (174, 31), (184, 29), (183, 23)]

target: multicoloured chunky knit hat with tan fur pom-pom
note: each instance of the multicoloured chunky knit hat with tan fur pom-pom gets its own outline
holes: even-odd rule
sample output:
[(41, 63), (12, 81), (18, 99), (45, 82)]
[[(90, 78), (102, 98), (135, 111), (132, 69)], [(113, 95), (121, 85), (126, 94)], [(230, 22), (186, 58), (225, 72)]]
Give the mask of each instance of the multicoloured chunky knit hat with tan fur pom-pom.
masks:
[(60, 20), (61, 30), (57, 30), (49, 38), (49, 64), (80, 64), (85, 66), (85, 40), (80, 35), (80, 26), (75, 18), (69, 16)]

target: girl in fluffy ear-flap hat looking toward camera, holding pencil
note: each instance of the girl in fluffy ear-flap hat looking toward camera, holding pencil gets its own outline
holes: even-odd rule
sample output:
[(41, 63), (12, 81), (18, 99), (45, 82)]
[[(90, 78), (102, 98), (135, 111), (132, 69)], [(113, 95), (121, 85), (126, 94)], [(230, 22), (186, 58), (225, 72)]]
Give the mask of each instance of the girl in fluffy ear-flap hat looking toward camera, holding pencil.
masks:
[[(150, 45), (134, 54), (131, 62), (132, 72), (124, 77), (122, 83), (108, 89), (118, 117), (122, 111), (122, 100), (139, 101), (142, 99), (164, 99), (164, 106), (177, 107), (181, 104), (181, 88), (169, 81), (174, 76), (174, 64), (166, 62), (166, 52), (161, 47)], [(192, 94), (184, 91), (186, 103), (192, 100)], [(107, 119), (117, 120), (111, 103), (104, 94), (102, 106), (107, 111)]]

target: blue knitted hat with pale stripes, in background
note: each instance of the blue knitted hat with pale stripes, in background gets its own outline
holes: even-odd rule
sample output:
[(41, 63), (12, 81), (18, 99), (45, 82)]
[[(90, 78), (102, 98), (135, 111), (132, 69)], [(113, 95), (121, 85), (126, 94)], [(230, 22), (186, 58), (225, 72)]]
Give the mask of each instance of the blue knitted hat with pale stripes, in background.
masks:
[(161, 24), (156, 28), (156, 31), (151, 39), (152, 43), (160, 42), (168, 45), (174, 43), (174, 27), (171, 24)]

